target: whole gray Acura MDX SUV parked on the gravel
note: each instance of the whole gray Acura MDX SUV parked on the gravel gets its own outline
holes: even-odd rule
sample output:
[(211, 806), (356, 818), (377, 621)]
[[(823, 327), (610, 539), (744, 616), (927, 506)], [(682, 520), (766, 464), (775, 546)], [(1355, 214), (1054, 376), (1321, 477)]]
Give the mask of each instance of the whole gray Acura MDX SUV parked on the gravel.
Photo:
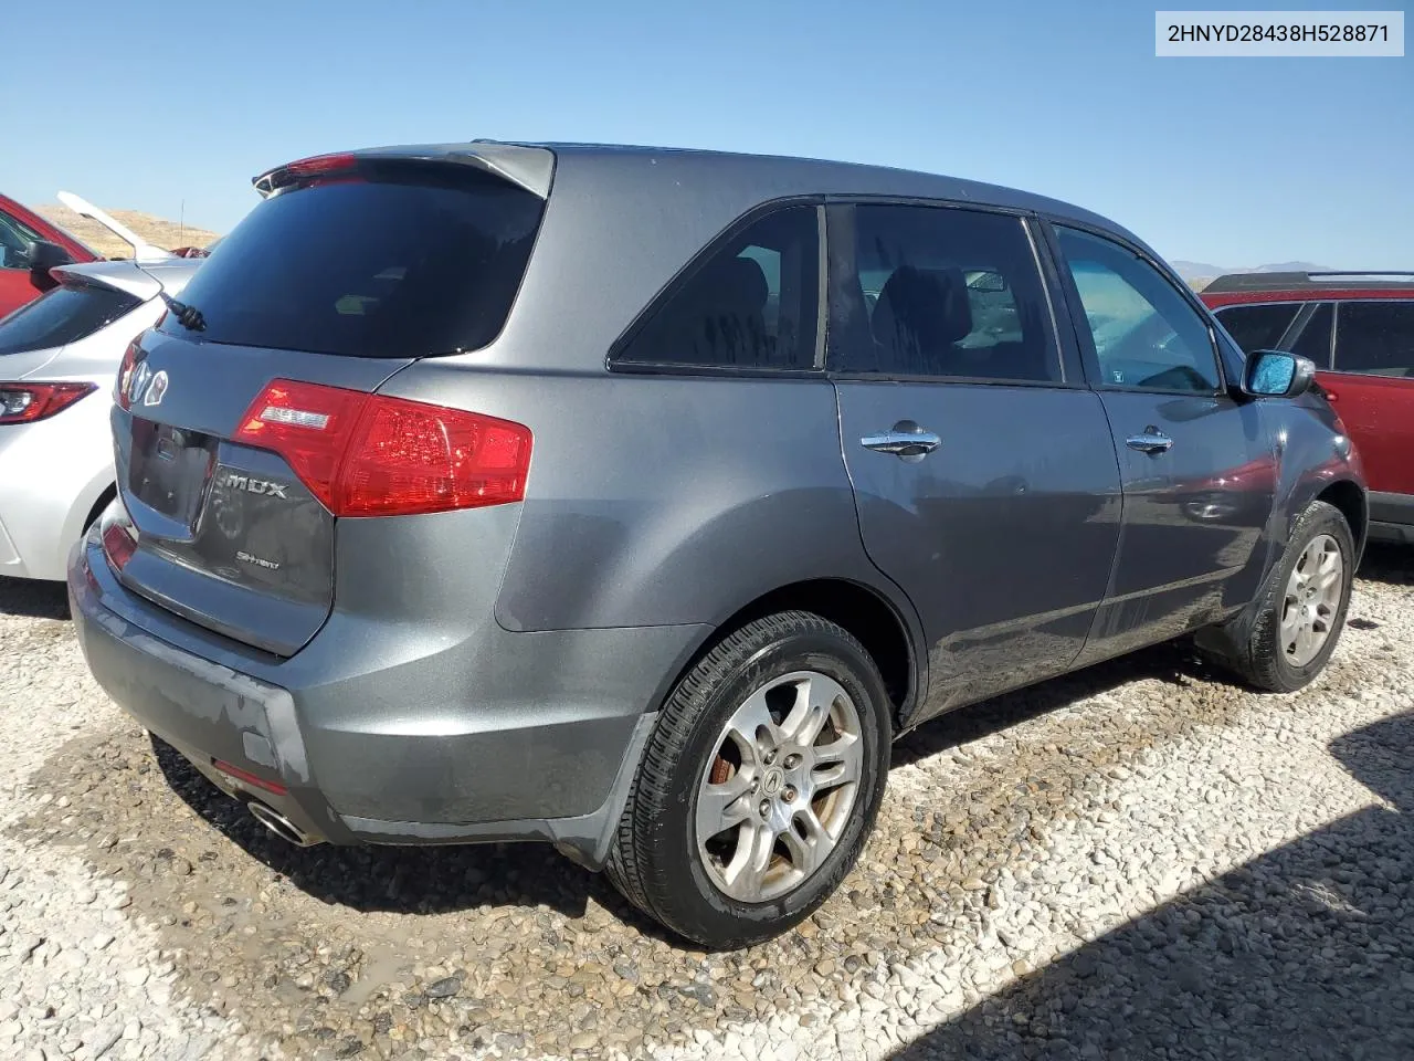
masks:
[(1366, 499), (1311, 364), (1093, 214), (573, 144), (256, 187), (127, 352), (69, 593), (288, 840), (546, 840), (738, 946), (919, 723), (1185, 634), (1277, 690), (1335, 648)]

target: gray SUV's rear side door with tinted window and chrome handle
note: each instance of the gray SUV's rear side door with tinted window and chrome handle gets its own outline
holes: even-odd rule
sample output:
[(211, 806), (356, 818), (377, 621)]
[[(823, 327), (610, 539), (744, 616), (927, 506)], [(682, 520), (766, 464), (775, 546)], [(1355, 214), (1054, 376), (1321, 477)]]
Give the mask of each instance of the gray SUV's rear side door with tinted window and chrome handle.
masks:
[(829, 365), (871, 560), (929, 641), (925, 714), (1065, 671), (1118, 538), (1120, 477), (1028, 222), (829, 211)]

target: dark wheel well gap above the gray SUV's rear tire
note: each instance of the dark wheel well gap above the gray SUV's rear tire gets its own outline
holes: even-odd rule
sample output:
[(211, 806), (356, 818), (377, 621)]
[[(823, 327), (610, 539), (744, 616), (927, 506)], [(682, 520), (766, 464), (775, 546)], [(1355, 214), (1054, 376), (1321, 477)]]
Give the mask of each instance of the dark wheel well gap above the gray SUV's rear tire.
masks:
[[(913, 695), (913, 651), (904, 621), (874, 590), (843, 579), (793, 583), (758, 597), (723, 622), (718, 632), (738, 630), (762, 615), (795, 610), (812, 611), (858, 638), (880, 669), (896, 720)], [(699, 656), (707, 651), (710, 644)]]

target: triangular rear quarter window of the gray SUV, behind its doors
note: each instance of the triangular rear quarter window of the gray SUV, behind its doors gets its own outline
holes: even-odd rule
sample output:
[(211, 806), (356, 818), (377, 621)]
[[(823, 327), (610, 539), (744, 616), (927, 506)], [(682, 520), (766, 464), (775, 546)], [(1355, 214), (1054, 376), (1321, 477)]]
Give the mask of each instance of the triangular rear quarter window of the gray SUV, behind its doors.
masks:
[(809, 369), (819, 291), (816, 208), (786, 207), (697, 263), (615, 359)]

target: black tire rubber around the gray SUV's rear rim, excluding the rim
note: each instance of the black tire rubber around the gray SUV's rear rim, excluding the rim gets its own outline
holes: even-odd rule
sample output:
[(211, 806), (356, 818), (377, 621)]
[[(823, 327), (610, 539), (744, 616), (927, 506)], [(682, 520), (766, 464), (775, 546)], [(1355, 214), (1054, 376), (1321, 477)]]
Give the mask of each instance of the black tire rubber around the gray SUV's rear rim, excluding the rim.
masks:
[[(727, 719), (766, 682), (792, 671), (816, 671), (839, 682), (854, 700), (864, 741), (864, 770), (850, 823), (824, 864), (786, 895), (738, 903), (713, 884), (697, 854), (696, 809), (707, 757)], [(754, 941), (776, 935), (816, 910), (839, 887), (872, 829), (888, 772), (888, 696), (872, 661), (853, 639), (824, 631), (790, 634), (758, 649), (710, 693), (693, 720), (683, 754), (672, 768), (677, 798), (669, 805), (653, 862), (667, 880), (662, 912), (699, 941)]]

